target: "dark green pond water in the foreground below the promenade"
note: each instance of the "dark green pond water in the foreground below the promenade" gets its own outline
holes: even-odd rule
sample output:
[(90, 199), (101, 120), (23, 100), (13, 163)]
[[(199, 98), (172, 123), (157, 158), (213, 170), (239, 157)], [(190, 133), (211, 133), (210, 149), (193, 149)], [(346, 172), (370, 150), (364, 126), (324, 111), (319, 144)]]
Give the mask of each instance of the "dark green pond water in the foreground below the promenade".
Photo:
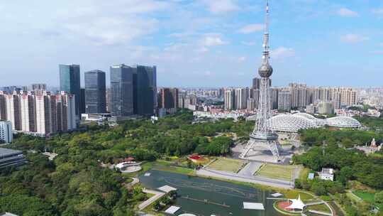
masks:
[[(245, 185), (236, 185), (219, 180), (181, 175), (165, 171), (148, 171), (150, 176), (140, 175), (145, 188), (157, 190), (163, 185), (177, 188), (174, 205), (181, 207), (176, 215), (188, 212), (198, 216), (280, 216), (267, 200), (270, 192)], [(208, 200), (205, 202), (204, 200)], [(265, 210), (244, 210), (243, 202), (262, 202)]]

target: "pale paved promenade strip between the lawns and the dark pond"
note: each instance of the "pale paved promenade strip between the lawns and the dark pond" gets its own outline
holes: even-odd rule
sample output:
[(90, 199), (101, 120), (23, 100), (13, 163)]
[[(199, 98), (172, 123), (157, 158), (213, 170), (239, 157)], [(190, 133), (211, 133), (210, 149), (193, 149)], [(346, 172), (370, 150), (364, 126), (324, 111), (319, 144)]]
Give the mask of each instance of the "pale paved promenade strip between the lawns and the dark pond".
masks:
[(260, 178), (255, 176), (247, 176), (247, 175), (239, 175), (234, 173), (225, 173), (225, 172), (218, 172), (218, 171), (211, 171), (207, 169), (200, 169), (199, 171), (196, 171), (196, 175), (201, 176), (208, 176), (208, 177), (215, 177), (215, 178), (222, 178), (227, 180), (237, 180), (241, 182), (247, 182), (247, 183), (256, 183), (260, 185), (269, 185), (272, 187), (277, 188), (294, 188), (294, 184), (292, 184), (289, 181), (285, 180), (273, 180), (269, 178)]

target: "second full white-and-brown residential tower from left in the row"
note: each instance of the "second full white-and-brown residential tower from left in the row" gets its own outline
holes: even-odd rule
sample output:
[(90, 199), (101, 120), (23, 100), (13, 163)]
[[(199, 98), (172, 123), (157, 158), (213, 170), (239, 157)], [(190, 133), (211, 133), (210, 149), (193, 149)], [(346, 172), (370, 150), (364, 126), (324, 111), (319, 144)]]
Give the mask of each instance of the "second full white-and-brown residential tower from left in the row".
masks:
[(20, 98), (21, 130), (36, 131), (36, 107), (34, 92), (23, 92)]

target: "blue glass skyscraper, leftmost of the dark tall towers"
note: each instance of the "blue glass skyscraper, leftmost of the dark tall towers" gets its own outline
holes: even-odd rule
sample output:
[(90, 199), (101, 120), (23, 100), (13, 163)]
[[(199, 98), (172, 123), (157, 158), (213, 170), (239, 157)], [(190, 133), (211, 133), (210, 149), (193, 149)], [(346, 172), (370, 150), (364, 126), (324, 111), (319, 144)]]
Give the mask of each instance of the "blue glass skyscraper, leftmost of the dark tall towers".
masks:
[(59, 65), (60, 69), (60, 91), (74, 95), (76, 99), (76, 114), (81, 115), (80, 108), (81, 90), (80, 90), (80, 68), (79, 65)]

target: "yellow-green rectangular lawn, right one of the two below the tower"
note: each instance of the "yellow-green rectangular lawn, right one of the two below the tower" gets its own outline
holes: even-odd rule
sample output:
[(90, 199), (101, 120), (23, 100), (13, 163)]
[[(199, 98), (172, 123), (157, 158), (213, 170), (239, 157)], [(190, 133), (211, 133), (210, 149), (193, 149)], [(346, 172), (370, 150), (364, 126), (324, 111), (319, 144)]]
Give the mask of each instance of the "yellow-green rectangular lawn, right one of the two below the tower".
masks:
[(280, 180), (292, 180), (295, 166), (283, 166), (277, 164), (267, 163), (262, 166), (255, 175), (264, 176), (267, 178), (277, 178)]

